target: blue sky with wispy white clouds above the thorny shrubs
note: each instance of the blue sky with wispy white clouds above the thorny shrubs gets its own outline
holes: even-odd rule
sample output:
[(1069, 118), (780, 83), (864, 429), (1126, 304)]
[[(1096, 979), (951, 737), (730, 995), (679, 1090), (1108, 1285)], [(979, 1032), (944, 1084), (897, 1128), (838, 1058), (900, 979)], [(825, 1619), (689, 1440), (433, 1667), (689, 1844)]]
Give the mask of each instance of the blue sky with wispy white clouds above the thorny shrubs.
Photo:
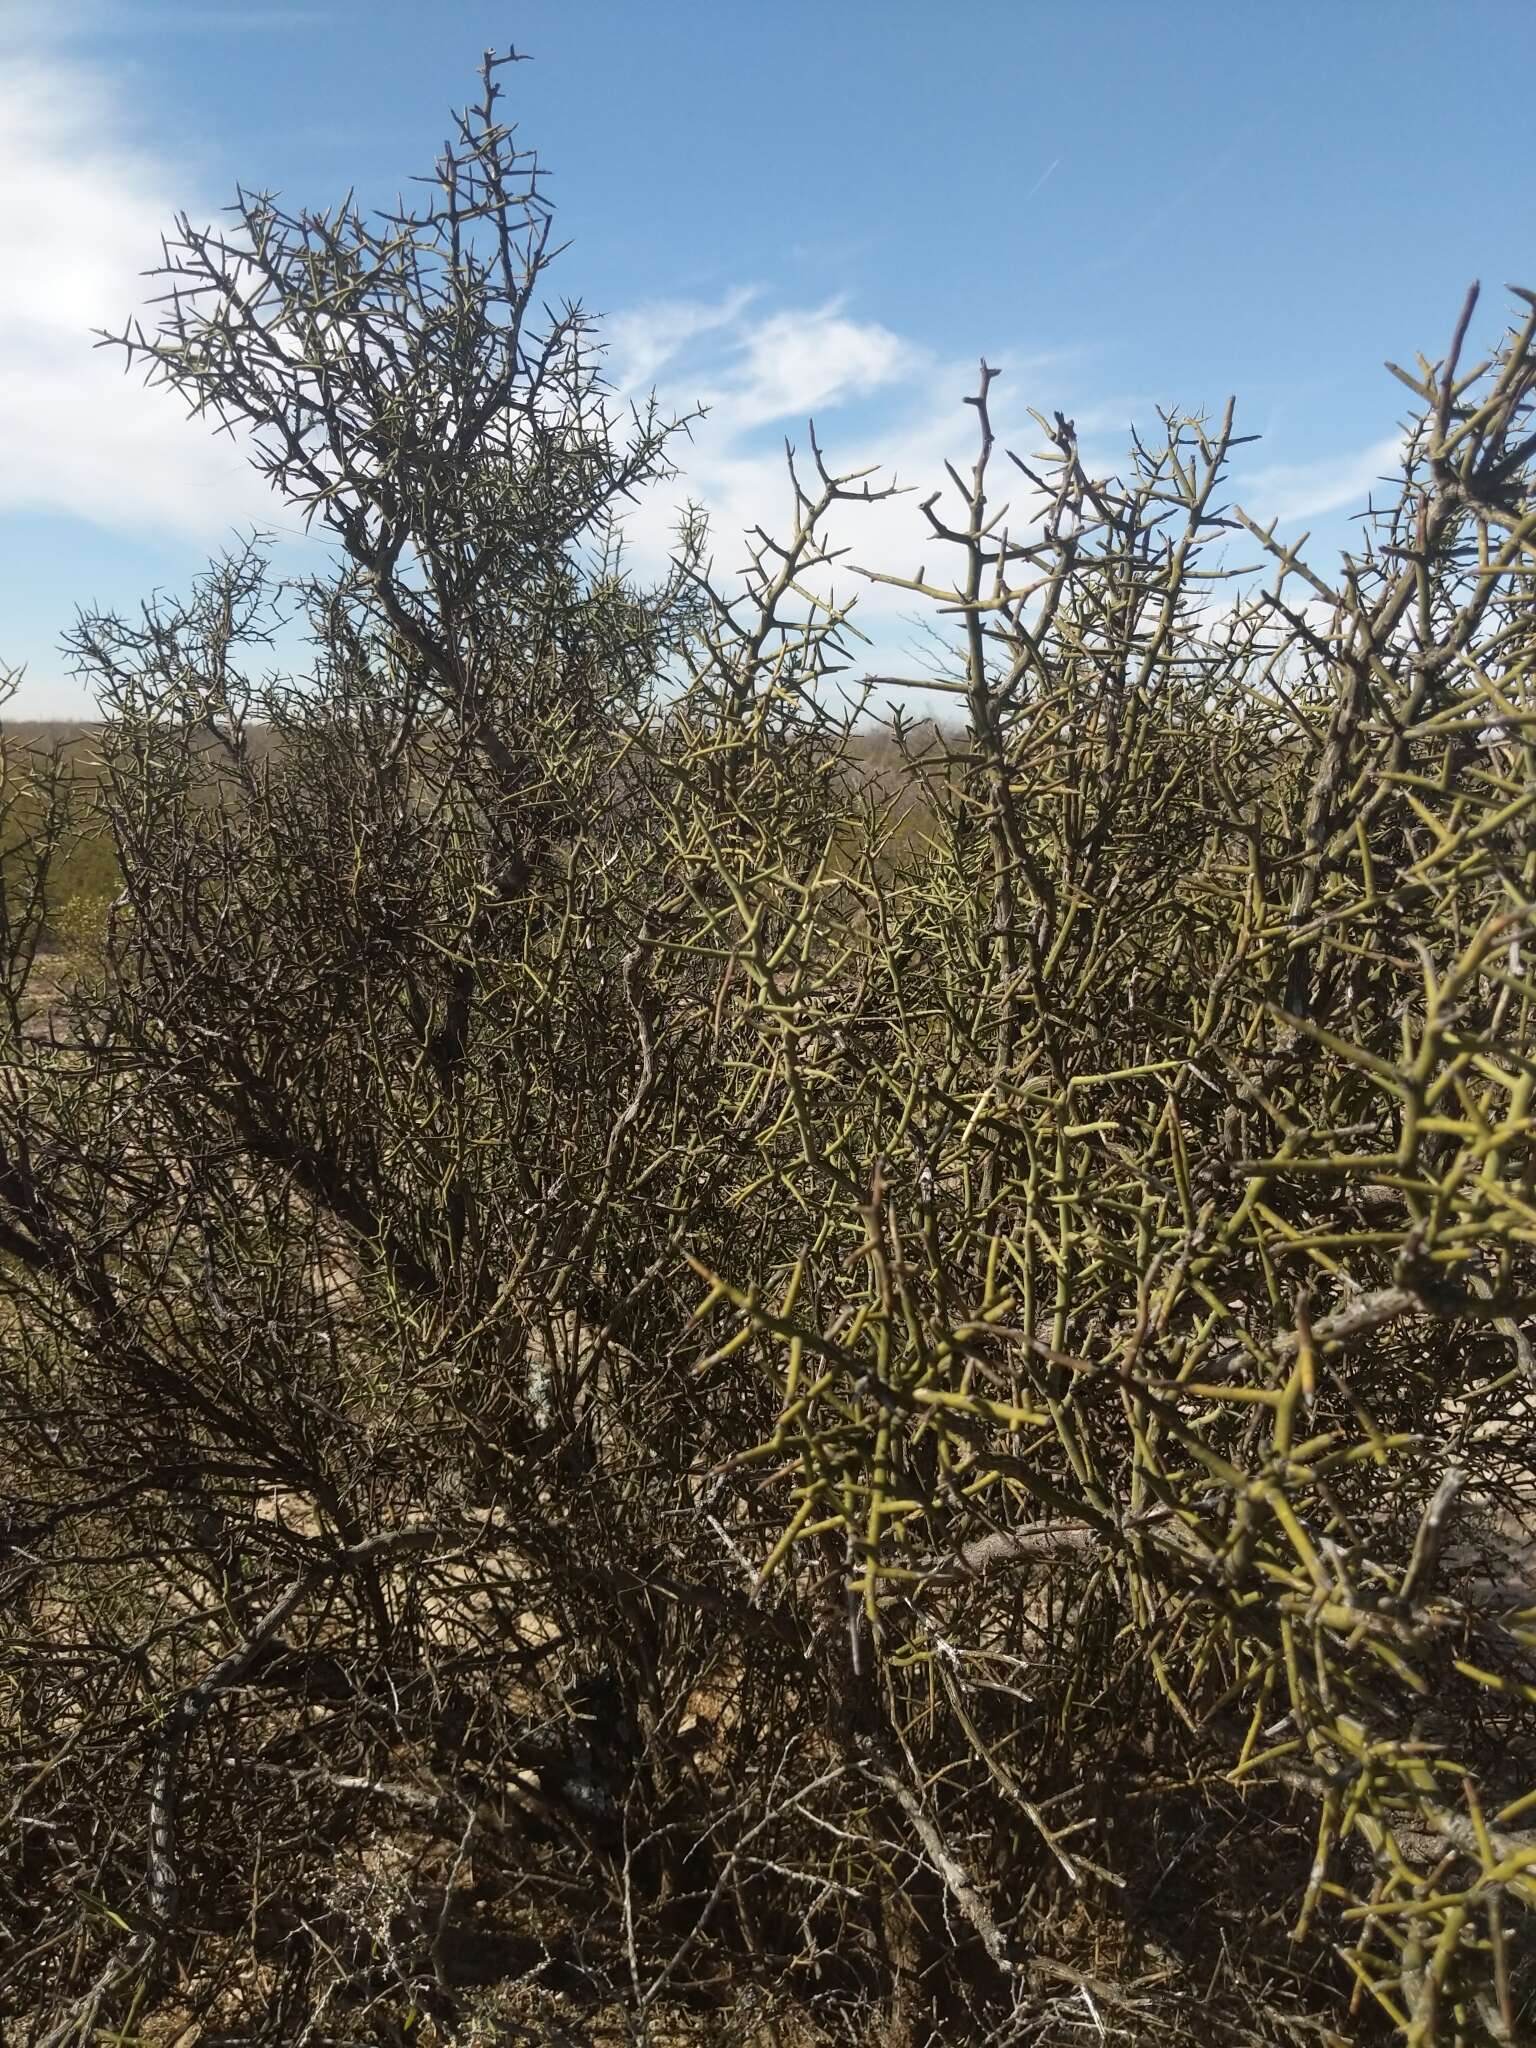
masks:
[[(920, 485), (848, 537), (915, 567), (983, 352), (1022, 446), (1024, 408), (1061, 408), (1100, 467), (1159, 403), (1235, 391), (1264, 440), (1233, 496), (1327, 563), (1391, 463), (1382, 358), (1444, 348), (1475, 276), (1483, 342), (1503, 285), (1536, 287), (1530, 0), (0, 0), (12, 711), (84, 707), (76, 604), (182, 588), (238, 526), (305, 551), (236, 451), (92, 354), (172, 209), (236, 180), (389, 201), (508, 41), (573, 242), (553, 283), (610, 315), (623, 387), (711, 401), (672, 498), (711, 506), (725, 567), (807, 414), (831, 457)], [(643, 563), (668, 516), (641, 510)], [(901, 625), (889, 598), (868, 623)]]

